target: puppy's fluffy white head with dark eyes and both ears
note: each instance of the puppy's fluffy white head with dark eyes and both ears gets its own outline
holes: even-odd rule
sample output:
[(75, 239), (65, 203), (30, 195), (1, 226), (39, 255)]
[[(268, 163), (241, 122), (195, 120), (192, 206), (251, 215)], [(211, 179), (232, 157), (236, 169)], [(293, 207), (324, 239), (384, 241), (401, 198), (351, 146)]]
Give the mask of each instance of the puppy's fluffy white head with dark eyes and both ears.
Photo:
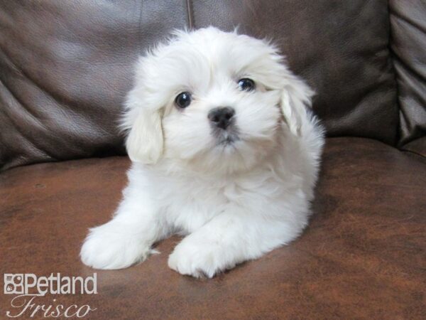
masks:
[(266, 41), (217, 28), (178, 31), (138, 61), (124, 127), (132, 161), (250, 169), (297, 136), (312, 90)]

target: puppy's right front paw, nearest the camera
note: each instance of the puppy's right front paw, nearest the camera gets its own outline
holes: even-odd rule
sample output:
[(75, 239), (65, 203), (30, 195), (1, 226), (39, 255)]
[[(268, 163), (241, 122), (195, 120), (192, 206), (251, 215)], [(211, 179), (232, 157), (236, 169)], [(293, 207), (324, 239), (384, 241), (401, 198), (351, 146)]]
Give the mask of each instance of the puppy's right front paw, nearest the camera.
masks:
[(171, 269), (197, 278), (212, 278), (218, 272), (231, 269), (235, 265), (231, 257), (226, 257), (226, 252), (223, 252), (220, 245), (188, 238), (175, 247), (168, 259)]

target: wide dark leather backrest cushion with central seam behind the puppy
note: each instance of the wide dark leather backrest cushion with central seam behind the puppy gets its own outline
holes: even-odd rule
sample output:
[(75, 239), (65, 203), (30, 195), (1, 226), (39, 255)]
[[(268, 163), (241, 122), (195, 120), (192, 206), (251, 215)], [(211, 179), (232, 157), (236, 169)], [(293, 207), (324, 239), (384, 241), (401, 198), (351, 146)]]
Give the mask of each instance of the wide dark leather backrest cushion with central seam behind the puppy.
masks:
[(329, 136), (395, 144), (386, 0), (0, 1), (0, 168), (124, 154), (116, 124), (137, 55), (209, 25), (273, 39)]

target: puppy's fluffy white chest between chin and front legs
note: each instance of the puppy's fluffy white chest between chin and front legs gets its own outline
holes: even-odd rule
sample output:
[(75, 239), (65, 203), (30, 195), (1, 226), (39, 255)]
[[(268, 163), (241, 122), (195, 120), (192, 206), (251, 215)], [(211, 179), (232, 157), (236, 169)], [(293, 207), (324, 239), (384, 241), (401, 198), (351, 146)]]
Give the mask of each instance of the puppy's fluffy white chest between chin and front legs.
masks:
[(161, 211), (170, 223), (192, 232), (225, 210), (252, 210), (265, 203), (264, 186), (275, 184), (264, 177), (207, 180), (197, 177), (163, 177), (155, 183)]

